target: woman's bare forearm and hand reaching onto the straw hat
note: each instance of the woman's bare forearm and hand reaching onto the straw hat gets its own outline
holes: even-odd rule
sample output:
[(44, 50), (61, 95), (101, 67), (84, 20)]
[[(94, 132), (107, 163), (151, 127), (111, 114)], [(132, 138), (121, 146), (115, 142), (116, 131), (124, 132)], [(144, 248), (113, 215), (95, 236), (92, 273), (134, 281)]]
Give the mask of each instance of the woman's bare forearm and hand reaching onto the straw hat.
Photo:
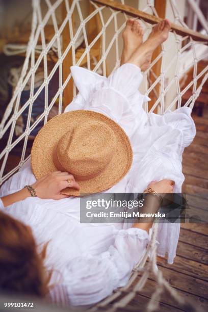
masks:
[[(32, 187), (36, 190), (37, 197), (42, 199), (62, 199), (68, 197), (61, 194), (61, 190), (69, 186), (68, 179), (71, 180), (70, 187), (77, 190), (80, 189), (79, 184), (76, 183), (72, 174), (68, 172), (56, 171), (49, 173), (42, 178), (38, 179)], [(2, 197), (4, 206), (9, 206), (17, 201), (30, 197), (30, 192), (23, 188), (22, 190), (13, 194)]]

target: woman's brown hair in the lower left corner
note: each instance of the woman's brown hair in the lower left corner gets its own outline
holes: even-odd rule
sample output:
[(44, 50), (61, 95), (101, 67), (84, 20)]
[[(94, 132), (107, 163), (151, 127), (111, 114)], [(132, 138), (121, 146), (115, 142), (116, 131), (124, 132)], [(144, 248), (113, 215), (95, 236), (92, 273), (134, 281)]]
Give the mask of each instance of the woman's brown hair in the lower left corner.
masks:
[(0, 212), (0, 289), (45, 296), (51, 277), (44, 267), (46, 248), (38, 253), (31, 228)]

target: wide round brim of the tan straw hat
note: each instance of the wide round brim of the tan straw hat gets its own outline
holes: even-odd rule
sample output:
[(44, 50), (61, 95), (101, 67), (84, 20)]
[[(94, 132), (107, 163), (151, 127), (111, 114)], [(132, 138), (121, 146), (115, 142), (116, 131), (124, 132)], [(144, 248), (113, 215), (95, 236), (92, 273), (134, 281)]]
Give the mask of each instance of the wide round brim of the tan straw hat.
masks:
[(93, 111), (71, 111), (49, 120), (36, 136), (31, 152), (32, 170), (36, 179), (58, 170), (53, 162), (53, 153), (58, 141), (71, 127), (86, 122), (86, 120), (100, 120), (107, 123), (114, 132), (117, 147), (111, 162), (99, 175), (88, 180), (76, 179), (81, 187), (80, 191), (66, 188), (61, 191), (65, 195), (82, 196), (106, 191), (117, 184), (132, 165), (131, 143), (123, 129), (115, 121)]

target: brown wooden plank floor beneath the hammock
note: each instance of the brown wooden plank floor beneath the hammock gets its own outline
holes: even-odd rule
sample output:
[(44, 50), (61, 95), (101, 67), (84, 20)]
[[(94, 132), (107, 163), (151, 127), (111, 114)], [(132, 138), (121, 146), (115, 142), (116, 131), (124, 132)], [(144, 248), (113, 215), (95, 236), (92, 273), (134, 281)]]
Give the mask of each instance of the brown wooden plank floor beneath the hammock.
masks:
[[(186, 148), (183, 157), (185, 183), (183, 191), (207, 199), (208, 194), (208, 108), (203, 117), (192, 115), (197, 134)], [(201, 193), (201, 194), (200, 194)], [(207, 203), (207, 201), (206, 201)], [(208, 206), (203, 209), (208, 210)], [(177, 255), (173, 265), (158, 257), (158, 266), (164, 277), (184, 298), (196, 303), (196, 311), (208, 310), (208, 226), (201, 223), (181, 224)], [(157, 288), (153, 276), (148, 279), (145, 289), (124, 310), (145, 311), (152, 292)], [(162, 294), (158, 311), (191, 312), (189, 305), (179, 307), (167, 293)], [(136, 309), (135, 309), (136, 308)]]

